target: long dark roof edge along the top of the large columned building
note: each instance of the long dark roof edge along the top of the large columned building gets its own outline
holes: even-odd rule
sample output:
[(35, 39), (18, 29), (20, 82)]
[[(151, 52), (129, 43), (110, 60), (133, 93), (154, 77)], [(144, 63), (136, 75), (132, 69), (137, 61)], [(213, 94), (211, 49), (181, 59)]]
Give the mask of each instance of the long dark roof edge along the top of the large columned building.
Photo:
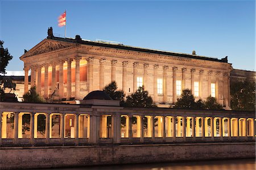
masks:
[(158, 49), (133, 47), (130, 45), (123, 45), (118, 42), (112, 43), (112, 42), (84, 40), (84, 39), (81, 39), (79, 35), (76, 35), (75, 39), (60, 38), (60, 37), (56, 37), (56, 36), (48, 36), (47, 39), (59, 40), (59, 41), (70, 42), (70, 43), (79, 43), (79, 44), (85, 44), (85, 45), (94, 45), (94, 46), (99, 46), (99, 47), (109, 47), (109, 48), (126, 49), (126, 50), (131, 50), (131, 51), (138, 51), (138, 52), (156, 53), (159, 55), (170, 55), (170, 56), (186, 57), (186, 58), (190, 58), (190, 59), (209, 60), (209, 61), (218, 61), (218, 62), (222, 62), (222, 63), (228, 63), (228, 56), (226, 56), (222, 59), (217, 59), (217, 58), (213, 58), (213, 57), (192, 55), (192, 54), (188, 54), (188, 53), (179, 53), (179, 52), (163, 51), (163, 50), (158, 50)]

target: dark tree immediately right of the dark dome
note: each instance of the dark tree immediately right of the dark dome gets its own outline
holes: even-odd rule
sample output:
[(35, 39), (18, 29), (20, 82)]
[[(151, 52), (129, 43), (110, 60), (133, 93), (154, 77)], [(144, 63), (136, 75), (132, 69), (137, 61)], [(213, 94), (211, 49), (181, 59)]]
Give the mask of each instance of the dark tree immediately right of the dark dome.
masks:
[(112, 99), (119, 100), (122, 105), (125, 102), (125, 93), (122, 90), (117, 90), (117, 83), (115, 81), (110, 82), (103, 89)]

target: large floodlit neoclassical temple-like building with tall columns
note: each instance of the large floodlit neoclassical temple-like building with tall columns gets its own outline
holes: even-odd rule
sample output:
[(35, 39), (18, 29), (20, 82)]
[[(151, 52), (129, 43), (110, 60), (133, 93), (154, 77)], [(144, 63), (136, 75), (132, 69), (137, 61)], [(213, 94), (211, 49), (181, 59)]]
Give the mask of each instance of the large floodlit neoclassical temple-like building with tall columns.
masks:
[(93, 42), (79, 35), (75, 39), (59, 38), (49, 28), (47, 39), (24, 53), (20, 60), (24, 62), (24, 92), (36, 85), (44, 98), (82, 99), (89, 92), (102, 90), (116, 81), (118, 89), (127, 95), (143, 85), (156, 104), (172, 104), (188, 88), (196, 99), (212, 96), (226, 109), (230, 106), (232, 64), (227, 57), (217, 59), (195, 52)]

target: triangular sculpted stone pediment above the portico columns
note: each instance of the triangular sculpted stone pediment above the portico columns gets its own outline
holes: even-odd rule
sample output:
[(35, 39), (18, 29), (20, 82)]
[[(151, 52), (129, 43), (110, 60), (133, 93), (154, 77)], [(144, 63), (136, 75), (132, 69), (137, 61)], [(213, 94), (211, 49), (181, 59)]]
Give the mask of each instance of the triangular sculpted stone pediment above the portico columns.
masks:
[(24, 55), (22, 55), (20, 57), (20, 59), (23, 59), (24, 57), (29, 57), (29, 56), (40, 55), (42, 53), (57, 51), (59, 49), (72, 47), (72, 46), (74, 46), (74, 44), (72, 44), (72, 43), (44, 39), (42, 42), (37, 44), (35, 47), (30, 49), (28, 52), (24, 53)]

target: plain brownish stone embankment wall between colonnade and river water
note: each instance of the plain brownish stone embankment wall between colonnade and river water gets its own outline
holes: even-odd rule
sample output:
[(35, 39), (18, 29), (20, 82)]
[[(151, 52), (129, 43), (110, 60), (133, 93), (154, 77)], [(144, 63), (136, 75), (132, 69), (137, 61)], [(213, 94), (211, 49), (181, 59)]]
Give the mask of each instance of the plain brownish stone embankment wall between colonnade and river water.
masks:
[(0, 147), (0, 169), (79, 167), (255, 157), (255, 143)]

